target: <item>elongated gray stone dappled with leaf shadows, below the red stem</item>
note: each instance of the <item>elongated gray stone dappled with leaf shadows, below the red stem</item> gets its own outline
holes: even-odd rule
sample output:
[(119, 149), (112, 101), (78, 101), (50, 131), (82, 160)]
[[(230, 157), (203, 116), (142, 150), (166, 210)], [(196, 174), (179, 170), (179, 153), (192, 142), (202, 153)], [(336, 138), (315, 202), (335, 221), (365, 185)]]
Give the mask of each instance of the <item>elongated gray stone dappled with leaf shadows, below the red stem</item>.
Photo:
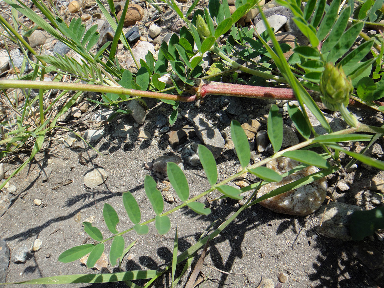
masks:
[(220, 131), (201, 116), (196, 116), (193, 119), (193, 124), (197, 137), (199, 137), (205, 146), (212, 152), (215, 159), (217, 159), (223, 151), (225, 144)]

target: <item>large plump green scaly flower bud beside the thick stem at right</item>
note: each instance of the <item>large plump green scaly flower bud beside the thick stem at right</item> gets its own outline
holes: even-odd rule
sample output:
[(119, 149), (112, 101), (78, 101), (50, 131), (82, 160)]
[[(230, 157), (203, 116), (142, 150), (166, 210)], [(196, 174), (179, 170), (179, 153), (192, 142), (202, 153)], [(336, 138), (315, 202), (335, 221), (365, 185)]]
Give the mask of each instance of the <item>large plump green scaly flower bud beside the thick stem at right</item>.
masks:
[(320, 78), (320, 98), (323, 104), (329, 110), (339, 110), (341, 104), (346, 107), (352, 91), (351, 78), (345, 76), (343, 68), (327, 63)]

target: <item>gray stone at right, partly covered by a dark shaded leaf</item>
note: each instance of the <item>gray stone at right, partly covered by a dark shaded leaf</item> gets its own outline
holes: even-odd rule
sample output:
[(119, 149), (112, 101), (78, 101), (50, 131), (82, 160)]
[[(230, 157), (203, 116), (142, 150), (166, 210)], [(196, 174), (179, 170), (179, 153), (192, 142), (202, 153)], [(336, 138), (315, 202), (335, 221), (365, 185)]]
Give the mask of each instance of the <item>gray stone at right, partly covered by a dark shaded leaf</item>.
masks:
[(353, 212), (364, 209), (356, 205), (331, 202), (318, 210), (317, 215), (319, 218), (323, 216), (325, 208), (327, 208), (327, 210), (323, 218), (323, 223), (316, 228), (317, 232), (328, 238), (336, 238), (343, 241), (352, 240), (349, 234), (349, 219)]

